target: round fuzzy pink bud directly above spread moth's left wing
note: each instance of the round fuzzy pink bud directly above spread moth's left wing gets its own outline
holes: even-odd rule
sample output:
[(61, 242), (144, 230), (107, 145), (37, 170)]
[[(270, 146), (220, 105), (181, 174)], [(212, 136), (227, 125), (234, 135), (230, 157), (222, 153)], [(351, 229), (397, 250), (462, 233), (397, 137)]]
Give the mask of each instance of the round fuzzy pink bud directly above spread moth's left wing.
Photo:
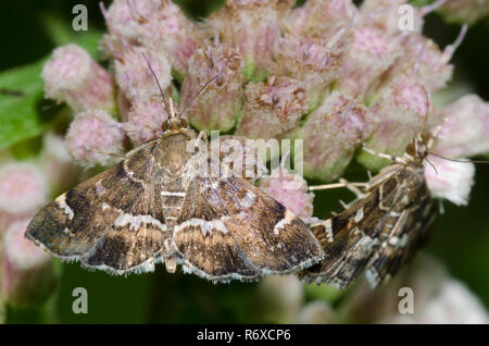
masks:
[(91, 110), (76, 114), (70, 125), (65, 146), (84, 168), (110, 165), (123, 153), (124, 132), (108, 112)]

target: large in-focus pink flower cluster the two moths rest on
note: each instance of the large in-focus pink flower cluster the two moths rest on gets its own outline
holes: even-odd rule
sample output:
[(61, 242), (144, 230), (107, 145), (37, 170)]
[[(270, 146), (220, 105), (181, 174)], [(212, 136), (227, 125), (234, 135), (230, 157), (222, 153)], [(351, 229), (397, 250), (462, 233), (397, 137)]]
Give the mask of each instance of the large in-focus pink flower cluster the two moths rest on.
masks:
[[(102, 9), (109, 32), (101, 42), (113, 74), (79, 47), (61, 47), (42, 73), (46, 96), (74, 110), (65, 145), (85, 168), (109, 165), (161, 134), (167, 112), (148, 62), (198, 131), (303, 139), (308, 178), (338, 178), (354, 159), (378, 170), (386, 161), (361, 144), (401, 156), (416, 134), (444, 119), (439, 155), (485, 153), (487, 103), (473, 96), (439, 110), (431, 102), (452, 77), (450, 60), (465, 34), (444, 49), (422, 34), (424, 16), (446, 2), (411, 8), (406, 28), (405, 0), (308, 0), (296, 8), (291, 0), (227, 0), (199, 24), (170, 0), (114, 0)], [(474, 170), (455, 174), (442, 160), (436, 166), (451, 173), (427, 170), (435, 195), (466, 203)], [(297, 191), (302, 198), (271, 190), (310, 217), (312, 198), (302, 184)]]

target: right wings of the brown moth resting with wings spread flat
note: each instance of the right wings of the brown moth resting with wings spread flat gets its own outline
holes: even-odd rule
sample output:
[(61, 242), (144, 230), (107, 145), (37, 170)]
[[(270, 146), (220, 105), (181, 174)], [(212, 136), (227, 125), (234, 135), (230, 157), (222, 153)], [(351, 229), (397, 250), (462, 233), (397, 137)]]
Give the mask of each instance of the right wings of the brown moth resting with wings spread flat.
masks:
[(253, 281), (317, 262), (309, 227), (240, 177), (196, 177), (173, 236), (184, 270), (212, 281)]

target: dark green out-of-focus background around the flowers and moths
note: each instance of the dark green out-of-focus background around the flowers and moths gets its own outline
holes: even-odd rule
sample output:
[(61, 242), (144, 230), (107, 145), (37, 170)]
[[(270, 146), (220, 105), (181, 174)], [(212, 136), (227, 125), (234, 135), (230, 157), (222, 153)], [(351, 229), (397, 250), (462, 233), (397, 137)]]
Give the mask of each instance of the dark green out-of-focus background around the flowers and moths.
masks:
[[(181, 0), (175, 1), (192, 18), (205, 17), (218, 9), (223, 1)], [(89, 30), (70, 30), (72, 9), (84, 3), (89, 13)], [(104, 1), (109, 5), (110, 1)], [(32, 66), (22, 85), (36, 86), (39, 90), (30, 104), (38, 119), (35, 122), (63, 126), (63, 120), (53, 119), (57, 106), (42, 101), (41, 85), (36, 71), (39, 62), (49, 57), (57, 46), (71, 41), (78, 42), (97, 57), (97, 41), (105, 30), (99, 1), (72, 0), (2, 0), (0, 2), (0, 35), (3, 45), (0, 58), (0, 87), (12, 88), (12, 69)], [(447, 23), (438, 13), (426, 18), (425, 34), (440, 47), (454, 41), (460, 24)], [(469, 91), (489, 99), (489, 21), (482, 18), (469, 27), (463, 45), (456, 51), (453, 63), (455, 74), (444, 98), (455, 98)], [(37, 70), (36, 70), (37, 69)], [(23, 72), (24, 73), (24, 72)], [(14, 79), (15, 81), (15, 79)], [(4, 104), (0, 102), (0, 107)], [(11, 107), (9, 104), (9, 107)], [(17, 110), (12, 106), (12, 110)], [(18, 106), (21, 109), (24, 106)], [(27, 110), (22, 109), (28, 112)], [(54, 111), (55, 110), (55, 111)], [(27, 114), (27, 113), (26, 113)], [(2, 115), (3, 116), (3, 113)], [(26, 115), (30, 116), (30, 115)], [(64, 124), (65, 125), (65, 124)], [(0, 118), (0, 136), (11, 135)], [(35, 128), (34, 128), (35, 127)], [(12, 140), (9, 148), (16, 158), (37, 155), (41, 137), (47, 126), (28, 127), (24, 137)], [(0, 158), (1, 158), (0, 153)], [(425, 259), (442, 267), (442, 271), (460, 280), (479, 297), (481, 307), (489, 309), (489, 165), (480, 164), (476, 171), (476, 184), (467, 207), (444, 203), (444, 214), (440, 215), (434, 236), (424, 255), (402, 275)], [(338, 211), (339, 199), (350, 200), (348, 191), (323, 191), (316, 194), (314, 214), (329, 217)], [(193, 275), (166, 273), (164, 265), (156, 265), (154, 273), (111, 276), (104, 272), (83, 270), (78, 263), (54, 263), (55, 288), (50, 288), (46, 299), (37, 306), (13, 307), (4, 304), (3, 316), (7, 323), (215, 323), (215, 322), (376, 322), (366, 311), (378, 307), (367, 307), (359, 302), (359, 295), (372, 295), (359, 282), (344, 293), (316, 285), (302, 285), (293, 279), (272, 279), (267, 282), (214, 285)], [(401, 276), (402, 276), (401, 275)], [(424, 280), (430, 280), (427, 275)], [(394, 281), (392, 285), (402, 285)], [(72, 310), (75, 287), (88, 292), (88, 313), (76, 314)], [(361, 294), (359, 292), (362, 292)], [(397, 291), (383, 288), (390, 302), (397, 301)], [(375, 294), (375, 301), (385, 301)], [(455, 294), (454, 294), (455, 295)], [(455, 297), (455, 296), (453, 296)], [(379, 300), (380, 299), (380, 300)], [(453, 298), (456, 299), (456, 298)], [(355, 301), (356, 301), (355, 300)], [(0, 301), (1, 302), (1, 301)], [(356, 306), (355, 306), (356, 304)], [(387, 304), (387, 302), (386, 302)], [(352, 307), (353, 305), (353, 307)], [(363, 308), (359, 308), (362, 307)], [(306, 308), (306, 309), (305, 309)], [(308, 310), (309, 309), (309, 310)], [(1, 310), (1, 309), (0, 309)], [(353, 311), (353, 312), (351, 312)], [(308, 314), (309, 313), (309, 314)], [(369, 312), (374, 313), (374, 312)], [(378, 312), (380, 313), (380, 312)], [(374, 313), (375, 314), (375, 313)], [(0, 318), (1, 321), (2, 318)], [(302, 320), (301, 320), (302, 319)], [(381, 319), (380, 319), (381, 320)]]

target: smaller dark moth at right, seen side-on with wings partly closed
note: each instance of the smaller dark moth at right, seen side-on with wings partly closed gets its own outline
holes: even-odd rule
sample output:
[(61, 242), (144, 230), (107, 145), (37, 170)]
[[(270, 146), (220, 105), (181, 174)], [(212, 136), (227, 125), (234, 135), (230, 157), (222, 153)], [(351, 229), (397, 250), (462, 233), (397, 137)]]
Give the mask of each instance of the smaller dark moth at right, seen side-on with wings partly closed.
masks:
[(364, 148), (391, 164), (368, 183), (359, 184), (363, 191), (344, 181), (339, 184), (360, 198), (337, 215), (312, 225), (325, 257), (299, 273), (303, 281), (346, 288), (366, 270), (369, 285), (376, 288), (413, 258), (429, 238), (437, 215), (423, 166), (430, 145), (418, 135), (403, 157)]

